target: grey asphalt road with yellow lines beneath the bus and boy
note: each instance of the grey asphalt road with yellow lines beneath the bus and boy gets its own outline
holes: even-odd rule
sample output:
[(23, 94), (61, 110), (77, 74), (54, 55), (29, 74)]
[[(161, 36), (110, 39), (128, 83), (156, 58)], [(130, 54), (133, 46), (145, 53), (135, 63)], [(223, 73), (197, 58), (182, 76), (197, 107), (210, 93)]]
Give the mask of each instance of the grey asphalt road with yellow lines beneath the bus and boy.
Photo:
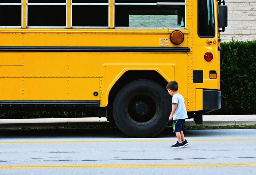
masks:
[(127, 138), (117, 129), (1, 131), (0, 174), (255, 174), (256, 129)]

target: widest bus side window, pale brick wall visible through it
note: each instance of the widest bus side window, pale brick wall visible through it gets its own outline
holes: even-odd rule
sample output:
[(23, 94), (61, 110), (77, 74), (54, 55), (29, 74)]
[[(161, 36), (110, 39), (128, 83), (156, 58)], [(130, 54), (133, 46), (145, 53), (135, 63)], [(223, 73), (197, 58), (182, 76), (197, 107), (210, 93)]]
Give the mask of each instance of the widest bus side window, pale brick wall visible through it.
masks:
[(185, 0), (116, 0), (115, 28), (185, 28), (185, 8)]

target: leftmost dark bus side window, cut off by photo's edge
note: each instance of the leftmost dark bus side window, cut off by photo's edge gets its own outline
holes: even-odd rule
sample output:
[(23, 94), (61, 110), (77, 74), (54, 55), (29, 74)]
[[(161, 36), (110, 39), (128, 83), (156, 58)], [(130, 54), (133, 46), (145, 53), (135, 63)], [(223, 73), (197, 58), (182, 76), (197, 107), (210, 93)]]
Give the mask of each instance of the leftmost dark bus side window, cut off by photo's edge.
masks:
[(21, 28), (21, 0), (0, 0), (0, 28)]

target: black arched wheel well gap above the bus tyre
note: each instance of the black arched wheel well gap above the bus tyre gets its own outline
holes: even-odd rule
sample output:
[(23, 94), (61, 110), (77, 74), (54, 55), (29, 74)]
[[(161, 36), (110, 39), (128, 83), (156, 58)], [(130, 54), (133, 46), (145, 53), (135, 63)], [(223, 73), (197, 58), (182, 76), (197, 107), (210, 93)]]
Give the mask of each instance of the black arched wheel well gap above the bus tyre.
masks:
[(166, 88), (166, 85), (168, 82), (161, 76), (158, 72), (154, 70), (129, 70), (126, 71), (114, 84), (114, 86), (111, 88), (109, 95), (108, 95), (108, 106), (112, 106), (113, 101), (116, 97), (116, 94), (118, 91), (124, 87), (125, 84), (132, 82), (134, 80), (138, 79), (147, 79), (154, 81), (161, 86)]

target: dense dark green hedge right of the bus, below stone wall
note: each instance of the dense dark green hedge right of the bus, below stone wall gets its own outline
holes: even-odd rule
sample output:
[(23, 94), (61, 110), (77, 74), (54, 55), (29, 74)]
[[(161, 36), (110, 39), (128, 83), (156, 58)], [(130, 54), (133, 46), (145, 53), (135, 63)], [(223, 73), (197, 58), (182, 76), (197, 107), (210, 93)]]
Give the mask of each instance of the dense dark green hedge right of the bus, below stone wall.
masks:
[(256, 114), (256, 40), (221, 43), (221, 109), (211, 114)]

